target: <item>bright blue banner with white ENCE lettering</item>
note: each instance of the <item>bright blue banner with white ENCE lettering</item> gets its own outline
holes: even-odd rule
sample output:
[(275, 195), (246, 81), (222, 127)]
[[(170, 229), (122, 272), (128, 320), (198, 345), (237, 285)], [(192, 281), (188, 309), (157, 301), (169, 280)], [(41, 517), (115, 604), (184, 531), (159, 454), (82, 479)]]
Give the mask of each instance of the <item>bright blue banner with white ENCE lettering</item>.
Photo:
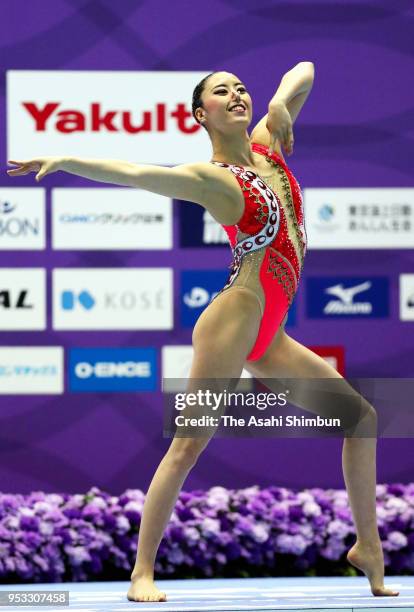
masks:
[(154, 348), (73, 348), (69, 351), (69, 390), (156, 391)]

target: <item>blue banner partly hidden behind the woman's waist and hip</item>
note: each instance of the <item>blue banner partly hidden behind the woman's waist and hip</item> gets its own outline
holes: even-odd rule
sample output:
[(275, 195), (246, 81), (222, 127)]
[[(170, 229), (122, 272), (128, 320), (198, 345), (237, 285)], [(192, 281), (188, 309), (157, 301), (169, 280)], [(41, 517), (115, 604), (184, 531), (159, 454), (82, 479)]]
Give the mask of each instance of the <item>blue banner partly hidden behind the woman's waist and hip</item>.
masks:
[[(226, 284), (229, 270), (184, 270), (181, 272), (181, 326), (194, 327), (213, 297)], [(289, 308), (287, 327), (296, 325), (296, 301)]]

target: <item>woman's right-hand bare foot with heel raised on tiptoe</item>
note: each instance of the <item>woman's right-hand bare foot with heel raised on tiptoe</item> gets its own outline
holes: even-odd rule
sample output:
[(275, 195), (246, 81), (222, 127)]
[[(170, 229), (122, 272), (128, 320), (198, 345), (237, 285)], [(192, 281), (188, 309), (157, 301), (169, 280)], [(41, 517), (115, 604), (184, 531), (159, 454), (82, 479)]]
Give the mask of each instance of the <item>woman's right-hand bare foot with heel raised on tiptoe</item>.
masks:
[(379, 597), (395, 597), (399, 591), (384, 587), (384, 555), (381, 543), (364, 546), (356, 542), (346, 556), (351, 565), (364, 572), (369, 580), (371, 592)]

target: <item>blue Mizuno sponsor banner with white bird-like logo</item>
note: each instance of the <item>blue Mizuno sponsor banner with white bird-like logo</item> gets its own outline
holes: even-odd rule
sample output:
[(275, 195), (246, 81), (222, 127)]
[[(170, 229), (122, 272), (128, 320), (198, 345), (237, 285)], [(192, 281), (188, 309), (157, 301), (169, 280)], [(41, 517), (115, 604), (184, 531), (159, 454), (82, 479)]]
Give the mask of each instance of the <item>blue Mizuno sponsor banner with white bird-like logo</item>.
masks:
[(372, 318), (389, 316), (389, 280), (382, 276), (325, 276), (307, 279), (307, 316)]

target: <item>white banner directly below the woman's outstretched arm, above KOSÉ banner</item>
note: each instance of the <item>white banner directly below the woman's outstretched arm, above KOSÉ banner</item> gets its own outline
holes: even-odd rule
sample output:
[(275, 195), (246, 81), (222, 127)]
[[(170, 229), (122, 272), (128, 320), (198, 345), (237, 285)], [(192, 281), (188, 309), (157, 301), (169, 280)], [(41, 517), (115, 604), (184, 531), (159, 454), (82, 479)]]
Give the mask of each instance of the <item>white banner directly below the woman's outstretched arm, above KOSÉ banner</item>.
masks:
[(141, 189), (52, 189), (54, 249), (171, 249), (172, 200)]

